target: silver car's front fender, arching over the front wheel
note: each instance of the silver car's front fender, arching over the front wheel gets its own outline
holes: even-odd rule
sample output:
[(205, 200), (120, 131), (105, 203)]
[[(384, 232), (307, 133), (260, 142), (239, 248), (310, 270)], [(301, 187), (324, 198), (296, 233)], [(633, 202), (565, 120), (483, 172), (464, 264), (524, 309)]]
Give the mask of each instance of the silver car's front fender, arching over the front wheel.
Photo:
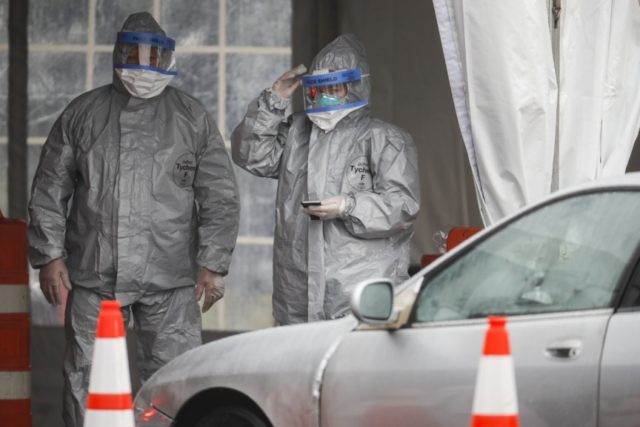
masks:
[(175, 417), (195, 394), (230, 388), (250, 397), (273, 425), (315, 425), (324, 366), (357, 324), (349, 315), (242, 333), (205, 344), (156, 372), (140, 389), (136, 406), (151, 403)]

